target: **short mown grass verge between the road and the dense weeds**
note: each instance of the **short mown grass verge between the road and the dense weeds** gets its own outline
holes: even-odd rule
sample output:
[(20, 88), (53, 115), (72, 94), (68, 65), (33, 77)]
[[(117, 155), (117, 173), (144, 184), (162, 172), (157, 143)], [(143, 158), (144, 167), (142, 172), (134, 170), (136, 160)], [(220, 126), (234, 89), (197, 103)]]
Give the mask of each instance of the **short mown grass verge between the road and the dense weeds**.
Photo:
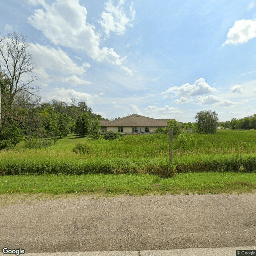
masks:
[[(184, 173), (175, 178), (138, 174), (0, 176), (0, 194), (218, 194), (256, 191), (255, 173)], [(77, 193), (76, 193), (77, 192)]]

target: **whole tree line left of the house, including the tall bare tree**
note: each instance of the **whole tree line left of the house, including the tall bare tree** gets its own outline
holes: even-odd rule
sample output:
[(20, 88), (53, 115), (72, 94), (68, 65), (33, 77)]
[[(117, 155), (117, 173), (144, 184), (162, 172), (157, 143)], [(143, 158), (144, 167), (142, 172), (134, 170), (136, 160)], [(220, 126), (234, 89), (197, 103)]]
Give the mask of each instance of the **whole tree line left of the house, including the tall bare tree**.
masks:
[(56, 141), (68, 133), (98, 138), (104, 118), (85, 102), (40, 103), (28, 47), (27, 37), (16, 32), (0, 36), (0, 149), (24, 138), (53, 136)]

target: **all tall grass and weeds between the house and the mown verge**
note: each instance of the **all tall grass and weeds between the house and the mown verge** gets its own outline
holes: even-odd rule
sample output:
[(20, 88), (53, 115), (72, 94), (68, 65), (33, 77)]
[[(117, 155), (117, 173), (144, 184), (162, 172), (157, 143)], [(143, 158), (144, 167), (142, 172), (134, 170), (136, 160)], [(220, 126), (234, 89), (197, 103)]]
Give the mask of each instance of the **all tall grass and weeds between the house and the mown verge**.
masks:
[(193, 136), (196, 143), (182, 150), (174, 137), (171, 167), (169, 138), (165, 134), (92, 141), (70, 134), (56, 145), (36, 149), (24, 148), (20, 143), (13, 150), (0, 151), (0, 175), (147, 173), (168, 177), (177, 172), (256, 171), (256, 132), (224, 130)]

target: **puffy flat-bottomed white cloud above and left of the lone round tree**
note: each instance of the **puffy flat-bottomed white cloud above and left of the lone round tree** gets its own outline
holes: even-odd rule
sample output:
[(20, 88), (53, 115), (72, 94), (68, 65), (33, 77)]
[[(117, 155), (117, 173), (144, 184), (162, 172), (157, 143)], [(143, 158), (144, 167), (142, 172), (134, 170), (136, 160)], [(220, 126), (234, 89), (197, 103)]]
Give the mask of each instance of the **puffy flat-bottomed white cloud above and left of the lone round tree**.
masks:
[(195, 96), (208, 94), (210, 92), (216, 92), (217, 90), (206, 83), (204, 78), (199, 78), (194, 84), (183, 84), (182, 86), (172, 86), (165, 92), (162, 92), (164, 98), (170, 97), (170, 93), (174, 93), (176, 96)]

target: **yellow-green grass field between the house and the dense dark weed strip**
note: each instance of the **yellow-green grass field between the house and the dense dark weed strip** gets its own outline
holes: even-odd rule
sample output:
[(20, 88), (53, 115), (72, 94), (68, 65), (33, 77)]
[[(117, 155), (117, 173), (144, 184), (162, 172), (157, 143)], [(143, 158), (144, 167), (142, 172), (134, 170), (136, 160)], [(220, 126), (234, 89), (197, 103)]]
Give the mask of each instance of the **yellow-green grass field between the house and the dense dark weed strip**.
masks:
[[(190, 134), (187, 134), (190, 136)], [(176, 138), (172, 143), (173, 156), (198, 156), (199, 154), (253, 154), (256, 152), (256, 132), (250, 131), (218, 131), (216, 134), (193, 134), (196, 145), (181, 150)], [(86, 154), (72, 152), (76, 144), (86, 144)], [(22, 143), (13, 150), (2, 150), (0, 159), (4, 158), (64, 158), (64, 159), (88, 159), (88, 158), (155, 158), (168, 157), (169, 138), (166, 134), (130, 135), (118, 140), (92, 140), (76, 138), (68, 135), (56, 145), (49, 148), (26, 149)]]

